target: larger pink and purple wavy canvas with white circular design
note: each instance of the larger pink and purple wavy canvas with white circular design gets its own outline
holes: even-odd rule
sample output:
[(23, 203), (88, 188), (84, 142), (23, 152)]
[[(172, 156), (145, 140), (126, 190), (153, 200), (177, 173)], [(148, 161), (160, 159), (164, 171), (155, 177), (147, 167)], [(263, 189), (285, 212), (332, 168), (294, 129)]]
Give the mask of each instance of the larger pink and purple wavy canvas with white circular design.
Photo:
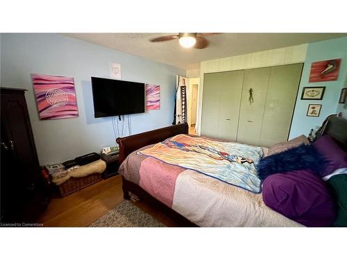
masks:
[(40, 119), (78, 117), (74, 78), (31, 74)]

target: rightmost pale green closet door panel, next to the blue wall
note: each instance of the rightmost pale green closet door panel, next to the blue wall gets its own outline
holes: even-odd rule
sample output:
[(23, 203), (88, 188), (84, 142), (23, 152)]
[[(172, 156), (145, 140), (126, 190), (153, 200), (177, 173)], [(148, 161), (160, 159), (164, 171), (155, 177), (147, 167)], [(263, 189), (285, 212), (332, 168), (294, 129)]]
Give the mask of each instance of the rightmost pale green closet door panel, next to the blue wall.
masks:
[(288, 139), (303, 64), (271, 68), (260, 146), (269, 147)]

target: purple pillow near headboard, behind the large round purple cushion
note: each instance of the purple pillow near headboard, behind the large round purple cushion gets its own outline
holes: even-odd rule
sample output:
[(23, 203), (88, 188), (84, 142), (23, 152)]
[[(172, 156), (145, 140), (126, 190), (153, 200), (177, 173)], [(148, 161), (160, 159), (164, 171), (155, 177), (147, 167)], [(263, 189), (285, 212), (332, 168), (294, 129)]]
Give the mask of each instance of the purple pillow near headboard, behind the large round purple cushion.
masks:
[(312, 144), (324, 159), (328, 161), (328, 164), (323, 173), (320, 173), (321, 177), (329, 175), (337, 168), (346, 168), (347, 167), (347, 153), (344, 152), (335, 141), (329, 135), (323, 135), (317, 141), (314, 141)]

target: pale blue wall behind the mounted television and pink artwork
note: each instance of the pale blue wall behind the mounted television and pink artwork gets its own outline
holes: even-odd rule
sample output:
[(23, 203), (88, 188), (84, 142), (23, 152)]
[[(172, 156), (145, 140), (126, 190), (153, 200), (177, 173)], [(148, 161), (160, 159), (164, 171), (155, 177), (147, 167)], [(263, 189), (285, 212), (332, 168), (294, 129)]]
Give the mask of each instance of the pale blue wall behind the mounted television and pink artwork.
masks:
[[(123, 80), (160, 85), (160, 110), (131, 115), (133, 134), (171, 125), (176, 74), (184, 75), (184, 70), (58, 34), (1, 35), (1, 86), (28, 89), (40, 164), (64, 162), (115, 144), (111, 118), (94, 119), (90, 83), (91, 76), (110, 77), (110, 62), (121, 64)], [(78, 118), (41, 121), (30, 73), (73, 77)]]

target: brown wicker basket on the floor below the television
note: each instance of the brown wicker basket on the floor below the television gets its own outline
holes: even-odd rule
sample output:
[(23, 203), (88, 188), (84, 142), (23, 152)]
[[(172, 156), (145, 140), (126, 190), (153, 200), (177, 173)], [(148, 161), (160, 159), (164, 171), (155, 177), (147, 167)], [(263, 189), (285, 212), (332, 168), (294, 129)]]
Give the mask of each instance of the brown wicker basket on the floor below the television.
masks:
[(70, 177), (69, 180), (59, 185), (60, 196), (65, 197), (96, 182), (101, 181), (100, 173), (93, 173), (85, 177)]

